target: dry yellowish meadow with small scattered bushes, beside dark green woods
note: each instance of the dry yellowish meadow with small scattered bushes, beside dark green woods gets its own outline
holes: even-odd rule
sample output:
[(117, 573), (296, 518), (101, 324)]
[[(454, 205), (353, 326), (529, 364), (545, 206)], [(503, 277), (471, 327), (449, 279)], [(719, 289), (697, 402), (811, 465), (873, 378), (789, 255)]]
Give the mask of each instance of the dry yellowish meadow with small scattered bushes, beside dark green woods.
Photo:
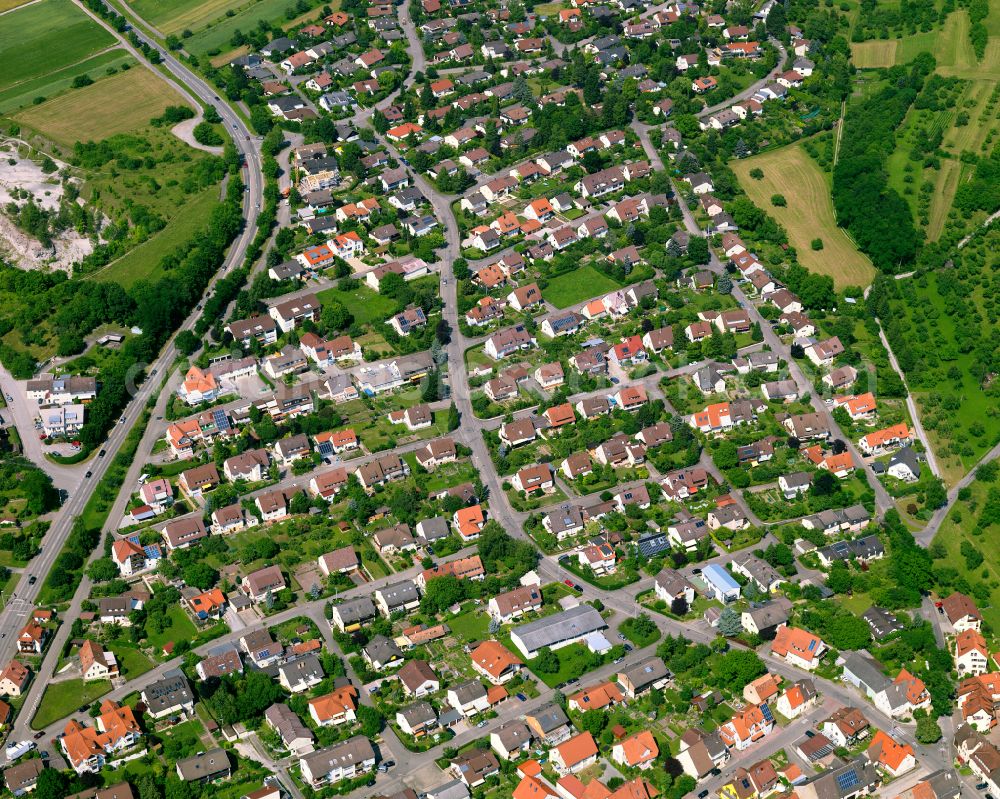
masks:
[[(803, 266), (830, 275), (838, 288), (871, 283), (875, 268), (837, 226), (826, 178), (800, 145), (737, 159), (730, 165), (750, 199), (788, 231)], [(754, 168), (763, 170), (762, 180), (750, 177)], [(788, 205), (773, 206), (774, 194), (783, 194)], [(822, 250), (810, 246), (815, 238), (823, 240)]]

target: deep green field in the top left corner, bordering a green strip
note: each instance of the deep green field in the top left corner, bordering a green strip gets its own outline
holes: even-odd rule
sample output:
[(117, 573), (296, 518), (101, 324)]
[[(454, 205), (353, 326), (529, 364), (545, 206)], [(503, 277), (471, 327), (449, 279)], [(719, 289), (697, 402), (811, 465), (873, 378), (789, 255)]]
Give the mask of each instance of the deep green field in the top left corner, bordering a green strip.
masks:
[(114, 44), (114, 37), (70, 0), (41, 0), (4, 14), (0, 16), (0, 91), (49, 75)]

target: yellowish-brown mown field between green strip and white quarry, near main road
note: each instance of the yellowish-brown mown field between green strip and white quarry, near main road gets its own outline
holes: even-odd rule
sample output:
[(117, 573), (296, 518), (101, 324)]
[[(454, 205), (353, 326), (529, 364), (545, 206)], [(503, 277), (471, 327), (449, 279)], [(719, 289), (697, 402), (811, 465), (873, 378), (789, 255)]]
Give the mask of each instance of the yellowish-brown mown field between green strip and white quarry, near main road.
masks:
[(92, 86), (22, 111), (15, 118), (56, 144), (99, 141), (149, 124), (168, 105), (184, 101), (145, 67), (120, 72)]

